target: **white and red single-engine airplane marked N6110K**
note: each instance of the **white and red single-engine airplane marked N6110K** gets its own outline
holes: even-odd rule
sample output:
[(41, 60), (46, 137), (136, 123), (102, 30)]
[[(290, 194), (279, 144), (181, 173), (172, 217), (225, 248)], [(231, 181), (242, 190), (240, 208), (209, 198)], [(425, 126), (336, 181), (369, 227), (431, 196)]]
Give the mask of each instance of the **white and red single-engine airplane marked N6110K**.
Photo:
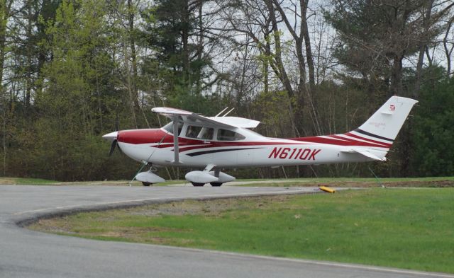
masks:
[[(136, 161), (151, 164), (135, 179), (143, 185), (164, 181), (153, 166), (201, 168), (185, 175), (194, 186), (221, 186), (235, 180), (223, 168), (295, 166), (323, 163), (386, 161), (413, 105), (411, 98), (393, 96), (358, 129), (345, 134), (279, 139), (250, 129), (260, 122), (242, 117), (205, 117), (174, 108), (153, 108), (172, 122), (160, 129), (111, 132), (104, 139)], [(230, 112), (230, 111), (229, 111)]]

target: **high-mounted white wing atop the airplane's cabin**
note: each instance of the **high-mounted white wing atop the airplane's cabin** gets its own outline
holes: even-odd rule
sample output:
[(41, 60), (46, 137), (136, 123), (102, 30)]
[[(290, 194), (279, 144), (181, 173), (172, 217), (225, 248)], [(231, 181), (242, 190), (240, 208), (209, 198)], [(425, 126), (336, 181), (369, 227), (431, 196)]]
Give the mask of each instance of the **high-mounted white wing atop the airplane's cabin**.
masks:
[(223, 127), (223, 128), (254, 128), (260, 124), (259, 121), (246, 119), (243, 117), (205, 117), (193, 112), (179, 110), (175, 108), (157, 107), (152, 109), (153, 112), (165, 115), (174, 120), (179, 117), (182, 122), (192, 122), (203, 125), (204, 127)]

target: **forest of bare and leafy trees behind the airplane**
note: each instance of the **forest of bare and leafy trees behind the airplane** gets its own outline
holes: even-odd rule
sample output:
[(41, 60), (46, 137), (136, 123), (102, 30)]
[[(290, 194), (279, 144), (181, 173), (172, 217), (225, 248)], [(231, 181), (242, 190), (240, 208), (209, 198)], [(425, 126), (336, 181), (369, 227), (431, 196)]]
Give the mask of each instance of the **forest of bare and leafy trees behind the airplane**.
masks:
[[(451, 0), (0, 0), (0, 173), (132, 178), (101, 135), (169, 106), (260, 120), (268, 137), (348, 132), (419, 100), (386, 163), (233, 169), (238, 178), (454, 174)], [(183, 169), (161, 168), (166, 179)]]

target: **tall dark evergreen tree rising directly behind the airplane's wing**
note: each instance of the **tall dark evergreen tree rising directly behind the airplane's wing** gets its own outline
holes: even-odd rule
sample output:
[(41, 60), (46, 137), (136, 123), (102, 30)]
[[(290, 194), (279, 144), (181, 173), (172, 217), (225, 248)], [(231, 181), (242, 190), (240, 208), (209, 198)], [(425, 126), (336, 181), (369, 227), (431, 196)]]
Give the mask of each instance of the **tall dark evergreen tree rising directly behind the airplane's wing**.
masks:
[(201, 47), (202, 31), (196, 14), (204, 1), (158, 0), (143, 11), (143, 42), (154, 54), (145, 59), (143, 70), (163, 84), (160, 88), (171, 105), (201, 110), (204, 97), (199, 83), (210, 59)]

